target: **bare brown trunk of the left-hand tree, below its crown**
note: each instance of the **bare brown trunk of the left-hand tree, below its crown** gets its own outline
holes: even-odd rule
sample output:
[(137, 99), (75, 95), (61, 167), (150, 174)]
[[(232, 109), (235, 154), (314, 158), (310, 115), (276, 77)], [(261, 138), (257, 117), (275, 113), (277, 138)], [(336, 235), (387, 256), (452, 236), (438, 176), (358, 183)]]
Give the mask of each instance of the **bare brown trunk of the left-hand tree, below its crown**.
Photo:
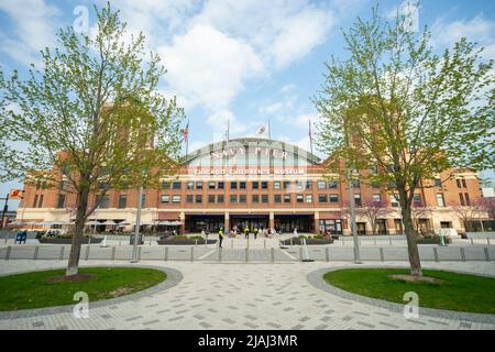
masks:
[(85, 217), (88, 208), (89, 189), (82, 189), (78, 194), (76, 226), (74, 228), (73, 243), (70, 246), (70, 255), (65, 272), (66, 276), (77, 275), (79, 271), (80, 245), (84, 239)]

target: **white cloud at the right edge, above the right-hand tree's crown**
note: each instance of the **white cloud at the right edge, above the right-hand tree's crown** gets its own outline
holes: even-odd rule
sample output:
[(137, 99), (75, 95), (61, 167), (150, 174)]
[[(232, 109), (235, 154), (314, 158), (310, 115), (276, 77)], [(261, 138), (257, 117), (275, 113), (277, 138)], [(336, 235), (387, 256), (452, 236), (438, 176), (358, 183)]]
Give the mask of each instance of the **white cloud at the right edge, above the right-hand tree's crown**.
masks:
[(438, 19), (431, 28), (431, 33), (433, 45), (451, 47), (464, 36), (485, 47), (484, 57), (495, 58), (495, 21), (486, 19), (483, 14), (477, 14), (471, 20), (453, 22)]

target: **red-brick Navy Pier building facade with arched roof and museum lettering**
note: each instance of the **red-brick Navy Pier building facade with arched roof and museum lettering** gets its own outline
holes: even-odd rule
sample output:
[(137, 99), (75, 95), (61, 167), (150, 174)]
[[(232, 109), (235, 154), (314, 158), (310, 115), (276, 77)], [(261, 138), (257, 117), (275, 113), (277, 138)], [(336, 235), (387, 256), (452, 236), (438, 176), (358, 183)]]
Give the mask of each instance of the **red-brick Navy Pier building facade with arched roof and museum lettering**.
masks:
[[(459, 169), (451, 179), (440, 182), (446, 175), (422, 180), (416, 191), (414, 217), (424, 231), (454, 228), (464, 232), (455, 209), (482, 196), (474, 170)], [(74, 221), (76, 196), (64, 190), (63, 178), (61, 187), (26, 184), (24, 190), (18, 211), (21, 227), (46, 229)], [(354, 182), (352, 193), (359, 233), (402, 233), (400, 209), (393, 194), (365, 182)], [(91, 195), (90, 207), (97, 197)], [(376, 205), (381, 209), (372, 221), (369, 210)], [(131, 231), (136, 206), (136, 189), (109, 190), (88, 227)], [(144, 190), (141, 216), (144, 226), (160, 230), (177, 224), (185, 233), (249, 227), (350, 234), (349, 218), (346, 184), (327, 174), (324, 161), (290, 143), (257, 138), (221, 141), (188, 154), (177, 174), (161, 179), (160, 189)]]

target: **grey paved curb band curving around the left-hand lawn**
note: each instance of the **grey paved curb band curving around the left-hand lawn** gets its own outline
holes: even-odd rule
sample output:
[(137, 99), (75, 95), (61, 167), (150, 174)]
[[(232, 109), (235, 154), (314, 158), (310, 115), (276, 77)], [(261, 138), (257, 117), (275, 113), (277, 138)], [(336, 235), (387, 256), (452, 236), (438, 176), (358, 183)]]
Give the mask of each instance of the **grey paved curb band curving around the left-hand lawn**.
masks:
[[(134, 294), (120, 296), (116, 298), (110, 299), (101, 299), (96, 300), (95, 302), (89, 302), (89, 309), (91, 308), (100, 308), (106, 306), (112, 306), (122, 304), (129, 300), (135, 300), (143, 297), (151, 297), (154, 294), (164, 292), (166, 289), (169, 289), (184, 278), (183, 274), (170, 267), (164, 267), (164, 266), (153, 266), (153, 265), (81, 265), (80, 267), (142, 267), (142, 268), (154, 268), (158, 270), (161, 272), (164, 272), (167, 274), (167, 277), (164, 282), (154, 285), (150, 288), (136, 292)], [(25, 273), (35, 273), (35, 272), (46, 272), (52, 270), (63, 270), (65, 266), (62, 267), (50, 267), (50, 268), (43, 268), (43, 270), (36, 270), (36, 271), (23, 271), (23, 272), (15, 272), (15, 273), (8, 273), (2, 274), (2, 276), (10, 276), (10, 275), (16, 275), (16, 274), (25, 274)], [(10, 311), (0, 311), (0, 320), (8, 320), (8, 319), (16, 319), (16, 318), (29, 318), (29, 317), (37, 317), (37, 316), (45, 316), (45, 315), (56, 315), (56, 314), (63, 314), (63, 312), (72, 312), (75, 305), (66, 305), (66, 306), (55, 306), (55, 307), (46, 307), (46, 308), (33, 308), (33, 309), (22, 309), (22, 310), (10, 310)]]

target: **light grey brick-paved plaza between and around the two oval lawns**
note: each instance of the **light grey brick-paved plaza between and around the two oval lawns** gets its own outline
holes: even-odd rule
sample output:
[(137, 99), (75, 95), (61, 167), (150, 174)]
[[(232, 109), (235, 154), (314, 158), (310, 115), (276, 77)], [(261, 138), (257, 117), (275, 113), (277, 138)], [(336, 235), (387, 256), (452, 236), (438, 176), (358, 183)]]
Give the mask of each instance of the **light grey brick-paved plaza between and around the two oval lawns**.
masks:
[[(81, 264), (131, 265), (97, 260)], [(66, 261), (56, 260), (0, 261), (0, 274), (65, 265)], [(354, 265), (349, 262), (143, 261), (134, 265), (162, 267), (168, 271), (170, 282), (90, 304), (87, 319), (76, 319), (70, 307), (0, 312), (0, 329), (495, 329), (494, 316), (446, 317), (422, 314), (420, 308), (419, 318), (406, 319), (402, 310), (324, 290), (316, 283), (327, 268)], [(407, 266), (407, 263), (362, 265)], [(495, 262), (428, 262), (424, 267), (495, 275)]]

